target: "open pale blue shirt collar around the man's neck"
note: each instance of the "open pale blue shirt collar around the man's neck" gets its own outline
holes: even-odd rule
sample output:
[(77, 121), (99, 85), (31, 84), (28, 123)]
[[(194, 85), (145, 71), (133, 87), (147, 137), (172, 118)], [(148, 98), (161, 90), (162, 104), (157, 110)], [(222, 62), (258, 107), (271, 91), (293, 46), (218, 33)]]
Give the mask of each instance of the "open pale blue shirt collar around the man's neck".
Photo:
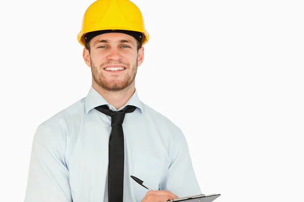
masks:
[[(111, 106), (105, 100), (105, 98), (93, 88), (93, 86), (91, 86), (91, 88), (85, 98), (86, 113), (88, 114), (89, 111), (91, 111), (92, 109), (94, 109), (95, 107), (100, 106), (100, 105), (107, 105), (108, 107), (112, 107), (115, 110), (115, 108), (113, 106)], [(133, 93), (133, 95), (131, 96), (131, 98), (126, 103), (126, 105), (124, 105), (121, 109), (118, 109), (118, 111), (122, 110), (127, 105), (132, 105), (132, 106), (139, 108), (140, 112), (143, 114), (142, 104), (139, 100), (136, 89), (135, 89), (135, 92)]]

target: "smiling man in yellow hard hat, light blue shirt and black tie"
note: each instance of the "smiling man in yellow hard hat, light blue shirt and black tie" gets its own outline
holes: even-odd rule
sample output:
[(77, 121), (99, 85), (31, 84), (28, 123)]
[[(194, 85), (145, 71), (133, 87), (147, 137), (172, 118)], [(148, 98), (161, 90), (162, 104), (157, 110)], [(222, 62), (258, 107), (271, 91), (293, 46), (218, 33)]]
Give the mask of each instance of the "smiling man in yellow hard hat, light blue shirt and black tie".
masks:
[(201, 193), (183, 133), (137, 96), (148, 38), (128, 0), (98, 0), (87, 9), (78, 41), (92, 86), (37, 128), (25, 202), (156, 202)]

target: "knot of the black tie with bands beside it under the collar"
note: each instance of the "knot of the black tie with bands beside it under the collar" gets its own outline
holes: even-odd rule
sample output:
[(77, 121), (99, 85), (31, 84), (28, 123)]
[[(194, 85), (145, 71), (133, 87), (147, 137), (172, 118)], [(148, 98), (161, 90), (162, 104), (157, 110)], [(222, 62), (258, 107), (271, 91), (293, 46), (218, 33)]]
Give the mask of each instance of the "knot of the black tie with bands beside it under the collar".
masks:
[(111, 117), (111, 126), (115, 124), (123, 124), (126, 113), (134, 112), (136, 107), (127, 105), (123, 110), (118, 112), (111, 111), (107, 105), (101, 105), (95, 108), (97, 111)]

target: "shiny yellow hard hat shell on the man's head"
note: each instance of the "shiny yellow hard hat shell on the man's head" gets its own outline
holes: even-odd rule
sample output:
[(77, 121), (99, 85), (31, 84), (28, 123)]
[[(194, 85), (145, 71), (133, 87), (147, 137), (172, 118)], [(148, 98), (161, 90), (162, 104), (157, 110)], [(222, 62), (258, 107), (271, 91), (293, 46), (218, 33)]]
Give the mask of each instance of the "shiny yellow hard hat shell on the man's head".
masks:
[(142, 45), (149, 39), (140, 10), (129, 0), (97, 0), (91, 4), (83, 17), (78, 42), (85, 46), (85, 35), (101, 30), (140, 32)]

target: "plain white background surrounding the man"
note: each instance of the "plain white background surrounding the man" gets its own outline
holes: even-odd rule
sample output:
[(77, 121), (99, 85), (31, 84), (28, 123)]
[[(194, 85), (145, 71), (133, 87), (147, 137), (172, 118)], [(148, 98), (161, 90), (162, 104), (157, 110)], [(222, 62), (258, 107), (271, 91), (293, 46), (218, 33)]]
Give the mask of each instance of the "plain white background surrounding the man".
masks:
[[(202, 192), (304, 201), (304, 2), (133, 2), (150, 33), (139, 97), (184, 132)], [(23, 200), (36, 127), (90, 88), (91, 3), (1, 1), (0, 201)]]

